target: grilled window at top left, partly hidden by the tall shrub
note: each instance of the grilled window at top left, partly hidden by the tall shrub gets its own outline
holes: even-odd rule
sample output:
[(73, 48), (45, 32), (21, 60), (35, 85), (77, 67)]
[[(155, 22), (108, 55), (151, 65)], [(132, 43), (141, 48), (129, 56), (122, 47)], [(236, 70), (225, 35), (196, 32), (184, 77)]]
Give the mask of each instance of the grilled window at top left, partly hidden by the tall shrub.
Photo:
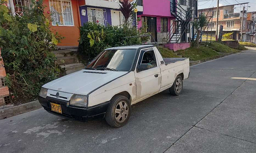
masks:
[(13, 0), (15, 15), (23, 16), (24, 7), (29, 8), (32, 5), (30, 0)]

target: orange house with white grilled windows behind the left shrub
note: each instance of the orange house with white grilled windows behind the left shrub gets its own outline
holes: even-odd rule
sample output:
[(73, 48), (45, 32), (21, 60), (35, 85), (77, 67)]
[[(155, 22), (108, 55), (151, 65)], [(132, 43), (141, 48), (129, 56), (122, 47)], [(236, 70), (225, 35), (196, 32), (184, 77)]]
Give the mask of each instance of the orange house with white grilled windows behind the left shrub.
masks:
[[(53, 33), (59, 33), (63, 40), (57, 46), (77, 47), (80, 37), (79, 27), (80, 13), (79, 1), (85, 0), (44, 0), (45, 15), (52, 15), (50, 29)], [(32, 0), (8, 0), (8, 7), (13, 15), (22, 16), (23, 7), (31, 7)]]

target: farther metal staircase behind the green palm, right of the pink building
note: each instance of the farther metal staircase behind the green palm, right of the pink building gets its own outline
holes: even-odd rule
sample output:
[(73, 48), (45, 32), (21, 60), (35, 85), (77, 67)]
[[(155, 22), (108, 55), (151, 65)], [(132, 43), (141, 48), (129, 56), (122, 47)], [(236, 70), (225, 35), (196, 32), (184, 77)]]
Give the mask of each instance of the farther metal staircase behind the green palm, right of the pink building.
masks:
[[(202, 36), (202, 34), (204, 33), (206, 27), (208, 26), (209, 22), (211, 21), (212, 19), (212, 15), (213, 15), (213, 8), (207, 8), (207, 9), (201, 9), (201, 10), (198, 10), (198, 16), (200, 16), (201, 14), (204, 14), (206, 16), (206, 20), (207, 20), (207, 25), (204, 26), (202, 29), (200, 29), (201, 33), (199, 33), (199, 37)], [(194, 28), (194, 29), (193, 29)], [(196, 28), (194, 27), (194, 25), (191, 27), (191, 30), (190, 31), (193, 31), (193, 34), (191, 36), (191, 41), (195, 41), (196, 40), (196, 37), (197, 37), (197, 30)]]

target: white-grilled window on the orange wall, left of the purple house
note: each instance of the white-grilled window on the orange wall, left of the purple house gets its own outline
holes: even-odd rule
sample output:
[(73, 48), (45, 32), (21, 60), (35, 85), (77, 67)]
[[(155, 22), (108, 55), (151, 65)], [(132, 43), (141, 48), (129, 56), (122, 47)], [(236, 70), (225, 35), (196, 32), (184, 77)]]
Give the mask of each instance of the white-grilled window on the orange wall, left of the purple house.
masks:
[(52, 25), (74, 25), (71, 1), (49, 0)]

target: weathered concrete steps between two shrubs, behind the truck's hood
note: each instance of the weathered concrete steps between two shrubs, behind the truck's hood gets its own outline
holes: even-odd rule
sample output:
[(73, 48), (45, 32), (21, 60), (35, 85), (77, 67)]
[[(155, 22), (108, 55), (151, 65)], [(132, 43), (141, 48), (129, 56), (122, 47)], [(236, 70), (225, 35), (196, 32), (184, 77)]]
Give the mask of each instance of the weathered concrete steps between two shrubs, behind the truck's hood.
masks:
[(60, 65), (66, 74), (70, 74), (81, 69), (84, 69), (85, 65), (80, 63), (77, 58), (77, 49), (64, 48), (53, 51), (53, 54), (57, 57), (56, 62)]

